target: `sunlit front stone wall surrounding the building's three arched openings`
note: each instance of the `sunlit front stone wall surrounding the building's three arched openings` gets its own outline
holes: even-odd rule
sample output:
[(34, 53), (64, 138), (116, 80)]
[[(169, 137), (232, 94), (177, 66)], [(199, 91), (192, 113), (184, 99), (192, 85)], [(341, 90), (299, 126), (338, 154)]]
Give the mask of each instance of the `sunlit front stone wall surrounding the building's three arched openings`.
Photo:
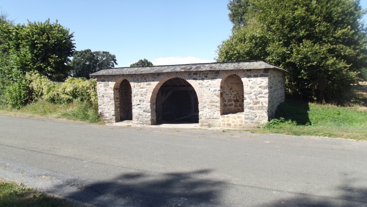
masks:
[[(99, 112), (106, 122), (116, 121), (115, 103), (119, 100), (115, 98), (115, 94), (118, 93), (119, 90), (116, 88), (119, 86), (115, 87), (115, 84), (120, 85), (121, 81), (126, 79), (132, 88), (133, 123), (155, 124), (155, 94), (159, 90), (159, 86), (167, 79), (178, 77), (187, 80), (196, 90), (199, 100), (200, 125), (221, 126), (220, 84), (223, 78), (234, 74), (241, 78), (244, 86), (243, 126), (262, 125), (268, 119), (269, 71), (273, 70), (188, 71), (98, 76)], [(280, 87), (274, 88), (274, 90), (281, 89)]]

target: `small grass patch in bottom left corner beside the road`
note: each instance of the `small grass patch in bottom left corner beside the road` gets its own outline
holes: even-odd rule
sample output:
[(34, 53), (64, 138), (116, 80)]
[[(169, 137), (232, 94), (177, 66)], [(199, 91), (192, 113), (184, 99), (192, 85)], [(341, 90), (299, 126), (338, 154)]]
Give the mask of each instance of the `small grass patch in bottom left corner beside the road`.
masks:
[(69, 206), (65, 200), (47, 196), (32, 188), (25, 188), (23, 184), (7, 182), (0, 179), (0, 206)]

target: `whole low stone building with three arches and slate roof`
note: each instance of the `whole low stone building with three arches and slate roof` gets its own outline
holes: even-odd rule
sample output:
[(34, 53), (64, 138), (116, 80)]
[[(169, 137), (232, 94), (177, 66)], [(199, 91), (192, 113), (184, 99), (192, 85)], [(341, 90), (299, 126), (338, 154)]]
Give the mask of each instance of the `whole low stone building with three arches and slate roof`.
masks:
[(285, 70), (264, 61), (106, 69), (97, 78), (105, 122), (258, 126), (285, 100)]

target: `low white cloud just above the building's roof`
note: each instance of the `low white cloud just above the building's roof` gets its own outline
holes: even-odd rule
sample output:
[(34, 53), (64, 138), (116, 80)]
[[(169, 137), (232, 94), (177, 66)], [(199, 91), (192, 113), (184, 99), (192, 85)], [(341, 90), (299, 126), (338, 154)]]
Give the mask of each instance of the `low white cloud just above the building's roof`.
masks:
[(215, 60), (200, 59), (197, 57), (158, 57), (155, 58), (153, 65), (169, 65), (169, 64), (191, 64), (191, 63), (207, 63), (215, 62)]

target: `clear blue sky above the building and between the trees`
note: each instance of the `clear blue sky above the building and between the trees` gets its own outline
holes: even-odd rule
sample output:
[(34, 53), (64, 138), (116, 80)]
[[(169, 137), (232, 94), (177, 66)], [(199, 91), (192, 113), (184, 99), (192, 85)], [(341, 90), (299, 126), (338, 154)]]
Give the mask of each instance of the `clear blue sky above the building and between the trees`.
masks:
[[(109, 51), (118, 67), (143, 58), (154, 65), (214, 62), (217, 46), (231, 34), (227, 3), (0, 0), (16, 23), (57, 19), (74, 32), (77, 50)], [(367, 0), (360, 4), (367, 8)]]

